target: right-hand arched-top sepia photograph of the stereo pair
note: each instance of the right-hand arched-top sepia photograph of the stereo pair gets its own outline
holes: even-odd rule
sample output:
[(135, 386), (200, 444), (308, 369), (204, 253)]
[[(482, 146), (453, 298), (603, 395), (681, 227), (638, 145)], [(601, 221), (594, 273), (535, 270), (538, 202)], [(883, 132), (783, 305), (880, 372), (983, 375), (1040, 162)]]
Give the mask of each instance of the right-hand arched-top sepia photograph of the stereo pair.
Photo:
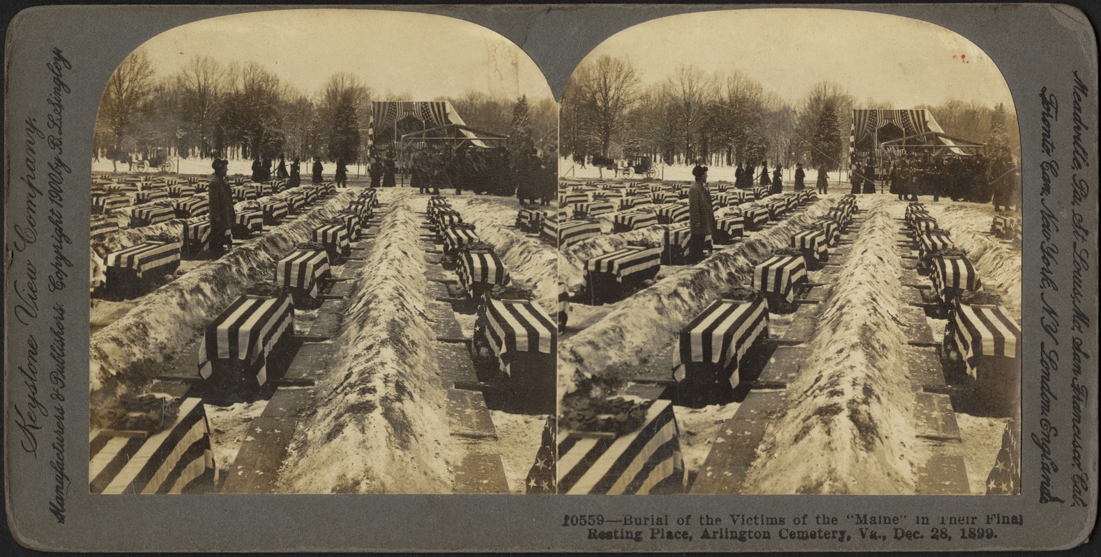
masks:
[(1021, 140), (967, 37), (648, 21), (558, 153), (558, 493), (1021, 493)]

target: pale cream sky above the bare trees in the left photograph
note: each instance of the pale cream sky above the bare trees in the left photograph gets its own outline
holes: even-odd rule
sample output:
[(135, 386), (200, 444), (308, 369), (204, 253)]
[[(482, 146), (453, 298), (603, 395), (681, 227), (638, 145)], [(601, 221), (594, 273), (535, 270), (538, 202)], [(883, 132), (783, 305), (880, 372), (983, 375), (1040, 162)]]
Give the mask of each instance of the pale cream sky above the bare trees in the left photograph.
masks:
[(274, 10), (225, 15), (166, 31), (143, 48), (159, 75), (193, 56), (228, 64), (255, 60), (305, 93), (333, 74), (359, 76), (378, 93), (410, 100), (481, 91), (504, 98), (553, 98), (523, 51), (480, 25), (454, 18), (381, 10)]

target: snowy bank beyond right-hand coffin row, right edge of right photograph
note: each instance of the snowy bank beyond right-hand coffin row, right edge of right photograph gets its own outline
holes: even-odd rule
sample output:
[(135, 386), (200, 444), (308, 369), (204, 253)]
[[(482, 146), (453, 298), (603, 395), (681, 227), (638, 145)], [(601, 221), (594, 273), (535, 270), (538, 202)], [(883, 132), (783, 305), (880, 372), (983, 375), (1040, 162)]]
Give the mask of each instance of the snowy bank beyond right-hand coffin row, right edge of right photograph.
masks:
[(953, 201), (926, 201), (925, 207), (941, 229), (951, 231), (956, 247), (967, 252), (983, 290), (1001, 296), (1002, 305), (1021, 323), (1021, 249), (990, 233), (994, 207)]

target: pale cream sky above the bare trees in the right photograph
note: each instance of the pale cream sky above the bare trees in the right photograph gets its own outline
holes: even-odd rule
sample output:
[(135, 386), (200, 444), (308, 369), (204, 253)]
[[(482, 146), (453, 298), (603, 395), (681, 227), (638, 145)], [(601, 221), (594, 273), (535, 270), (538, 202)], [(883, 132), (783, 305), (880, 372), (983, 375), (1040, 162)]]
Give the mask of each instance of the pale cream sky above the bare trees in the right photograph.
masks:
[(708, 74), (740, 69), (791, 102), (831, 80), (858, 103), (874, 99), (907, 109), (958, 99), (1004, 102), (1013, 111), (1005, 79), (979, 47), (897, 15), (807, 8), (673, 15), (613, 35), (587, 59), (603, 54), (629, 57), (643, 83), (694, 64)]

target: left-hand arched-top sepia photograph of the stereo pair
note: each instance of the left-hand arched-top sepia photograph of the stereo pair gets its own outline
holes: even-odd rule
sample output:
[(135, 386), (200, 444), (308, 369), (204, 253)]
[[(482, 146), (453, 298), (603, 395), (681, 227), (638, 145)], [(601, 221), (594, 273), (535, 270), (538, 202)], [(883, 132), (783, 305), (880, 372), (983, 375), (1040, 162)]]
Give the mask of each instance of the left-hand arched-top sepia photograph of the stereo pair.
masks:
[(557, 144), (457, 19), (142, 44), (89, 154), (90, 492), (553, 493)]

